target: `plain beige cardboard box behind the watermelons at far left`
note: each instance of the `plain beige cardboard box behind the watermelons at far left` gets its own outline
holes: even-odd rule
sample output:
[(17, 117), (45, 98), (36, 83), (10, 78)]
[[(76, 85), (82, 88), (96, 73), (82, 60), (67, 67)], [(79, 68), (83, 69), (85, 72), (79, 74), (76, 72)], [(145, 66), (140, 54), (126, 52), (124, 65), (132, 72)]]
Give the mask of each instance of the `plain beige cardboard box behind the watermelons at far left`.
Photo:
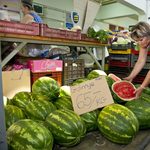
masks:
[(30, 70), (2, 71), (3, 96), (12, 99), (21, 91), (31, 92)]

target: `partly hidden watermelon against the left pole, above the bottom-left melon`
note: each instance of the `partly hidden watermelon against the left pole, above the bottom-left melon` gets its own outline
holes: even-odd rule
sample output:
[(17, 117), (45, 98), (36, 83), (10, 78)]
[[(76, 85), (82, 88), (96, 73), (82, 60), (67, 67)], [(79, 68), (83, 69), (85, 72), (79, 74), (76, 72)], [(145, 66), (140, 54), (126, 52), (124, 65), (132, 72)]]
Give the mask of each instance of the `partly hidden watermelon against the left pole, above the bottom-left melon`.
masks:
[(23, 111), (14, 105), (5, 105), (5, 124), (6, 130), (15, 122), (21, 119), (25, 119)]

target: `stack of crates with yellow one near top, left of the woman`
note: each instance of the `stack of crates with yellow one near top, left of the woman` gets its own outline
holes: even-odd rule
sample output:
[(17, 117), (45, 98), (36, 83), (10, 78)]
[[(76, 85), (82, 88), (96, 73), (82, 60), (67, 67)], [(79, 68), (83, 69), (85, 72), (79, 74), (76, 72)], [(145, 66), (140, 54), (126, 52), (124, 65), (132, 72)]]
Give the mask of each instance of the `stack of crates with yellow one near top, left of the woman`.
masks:
[(121, 79), (131, 73), (132, 48), (133, 43), (111, 44), (109, 48), (109, 73), (113, 73)]

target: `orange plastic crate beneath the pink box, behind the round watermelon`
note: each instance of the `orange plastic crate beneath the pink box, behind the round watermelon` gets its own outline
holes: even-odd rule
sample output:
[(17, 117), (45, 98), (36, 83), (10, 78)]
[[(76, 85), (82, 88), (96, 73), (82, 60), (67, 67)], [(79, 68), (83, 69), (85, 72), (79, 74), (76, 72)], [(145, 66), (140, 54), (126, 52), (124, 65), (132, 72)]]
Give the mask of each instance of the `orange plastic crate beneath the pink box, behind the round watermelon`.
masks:
[[(59, 85), (61, 86), (61, 78), (62, 78), (62, 72), (61, 71), (54, 71), (54, 72), (31, 72), (31, 87), (33, 83), (39, 79), (40, 77), (51, 77), (54, 80), (56, 80)], [(32, 89), (32, 88), (31, 88)]]

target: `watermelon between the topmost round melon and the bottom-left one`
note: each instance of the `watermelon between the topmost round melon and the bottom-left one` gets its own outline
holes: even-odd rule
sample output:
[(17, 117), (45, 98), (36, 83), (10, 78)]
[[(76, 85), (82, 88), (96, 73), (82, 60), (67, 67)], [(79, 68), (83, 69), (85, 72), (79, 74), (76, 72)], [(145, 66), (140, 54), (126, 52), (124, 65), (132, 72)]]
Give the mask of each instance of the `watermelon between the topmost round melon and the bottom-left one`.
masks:
[(56, 107), (46, 100), (35, 100), (25, 107), (25, 114), (28, 119), (32, 119), (38, 123), (43, 123), (46, 117), (56, 110)]

